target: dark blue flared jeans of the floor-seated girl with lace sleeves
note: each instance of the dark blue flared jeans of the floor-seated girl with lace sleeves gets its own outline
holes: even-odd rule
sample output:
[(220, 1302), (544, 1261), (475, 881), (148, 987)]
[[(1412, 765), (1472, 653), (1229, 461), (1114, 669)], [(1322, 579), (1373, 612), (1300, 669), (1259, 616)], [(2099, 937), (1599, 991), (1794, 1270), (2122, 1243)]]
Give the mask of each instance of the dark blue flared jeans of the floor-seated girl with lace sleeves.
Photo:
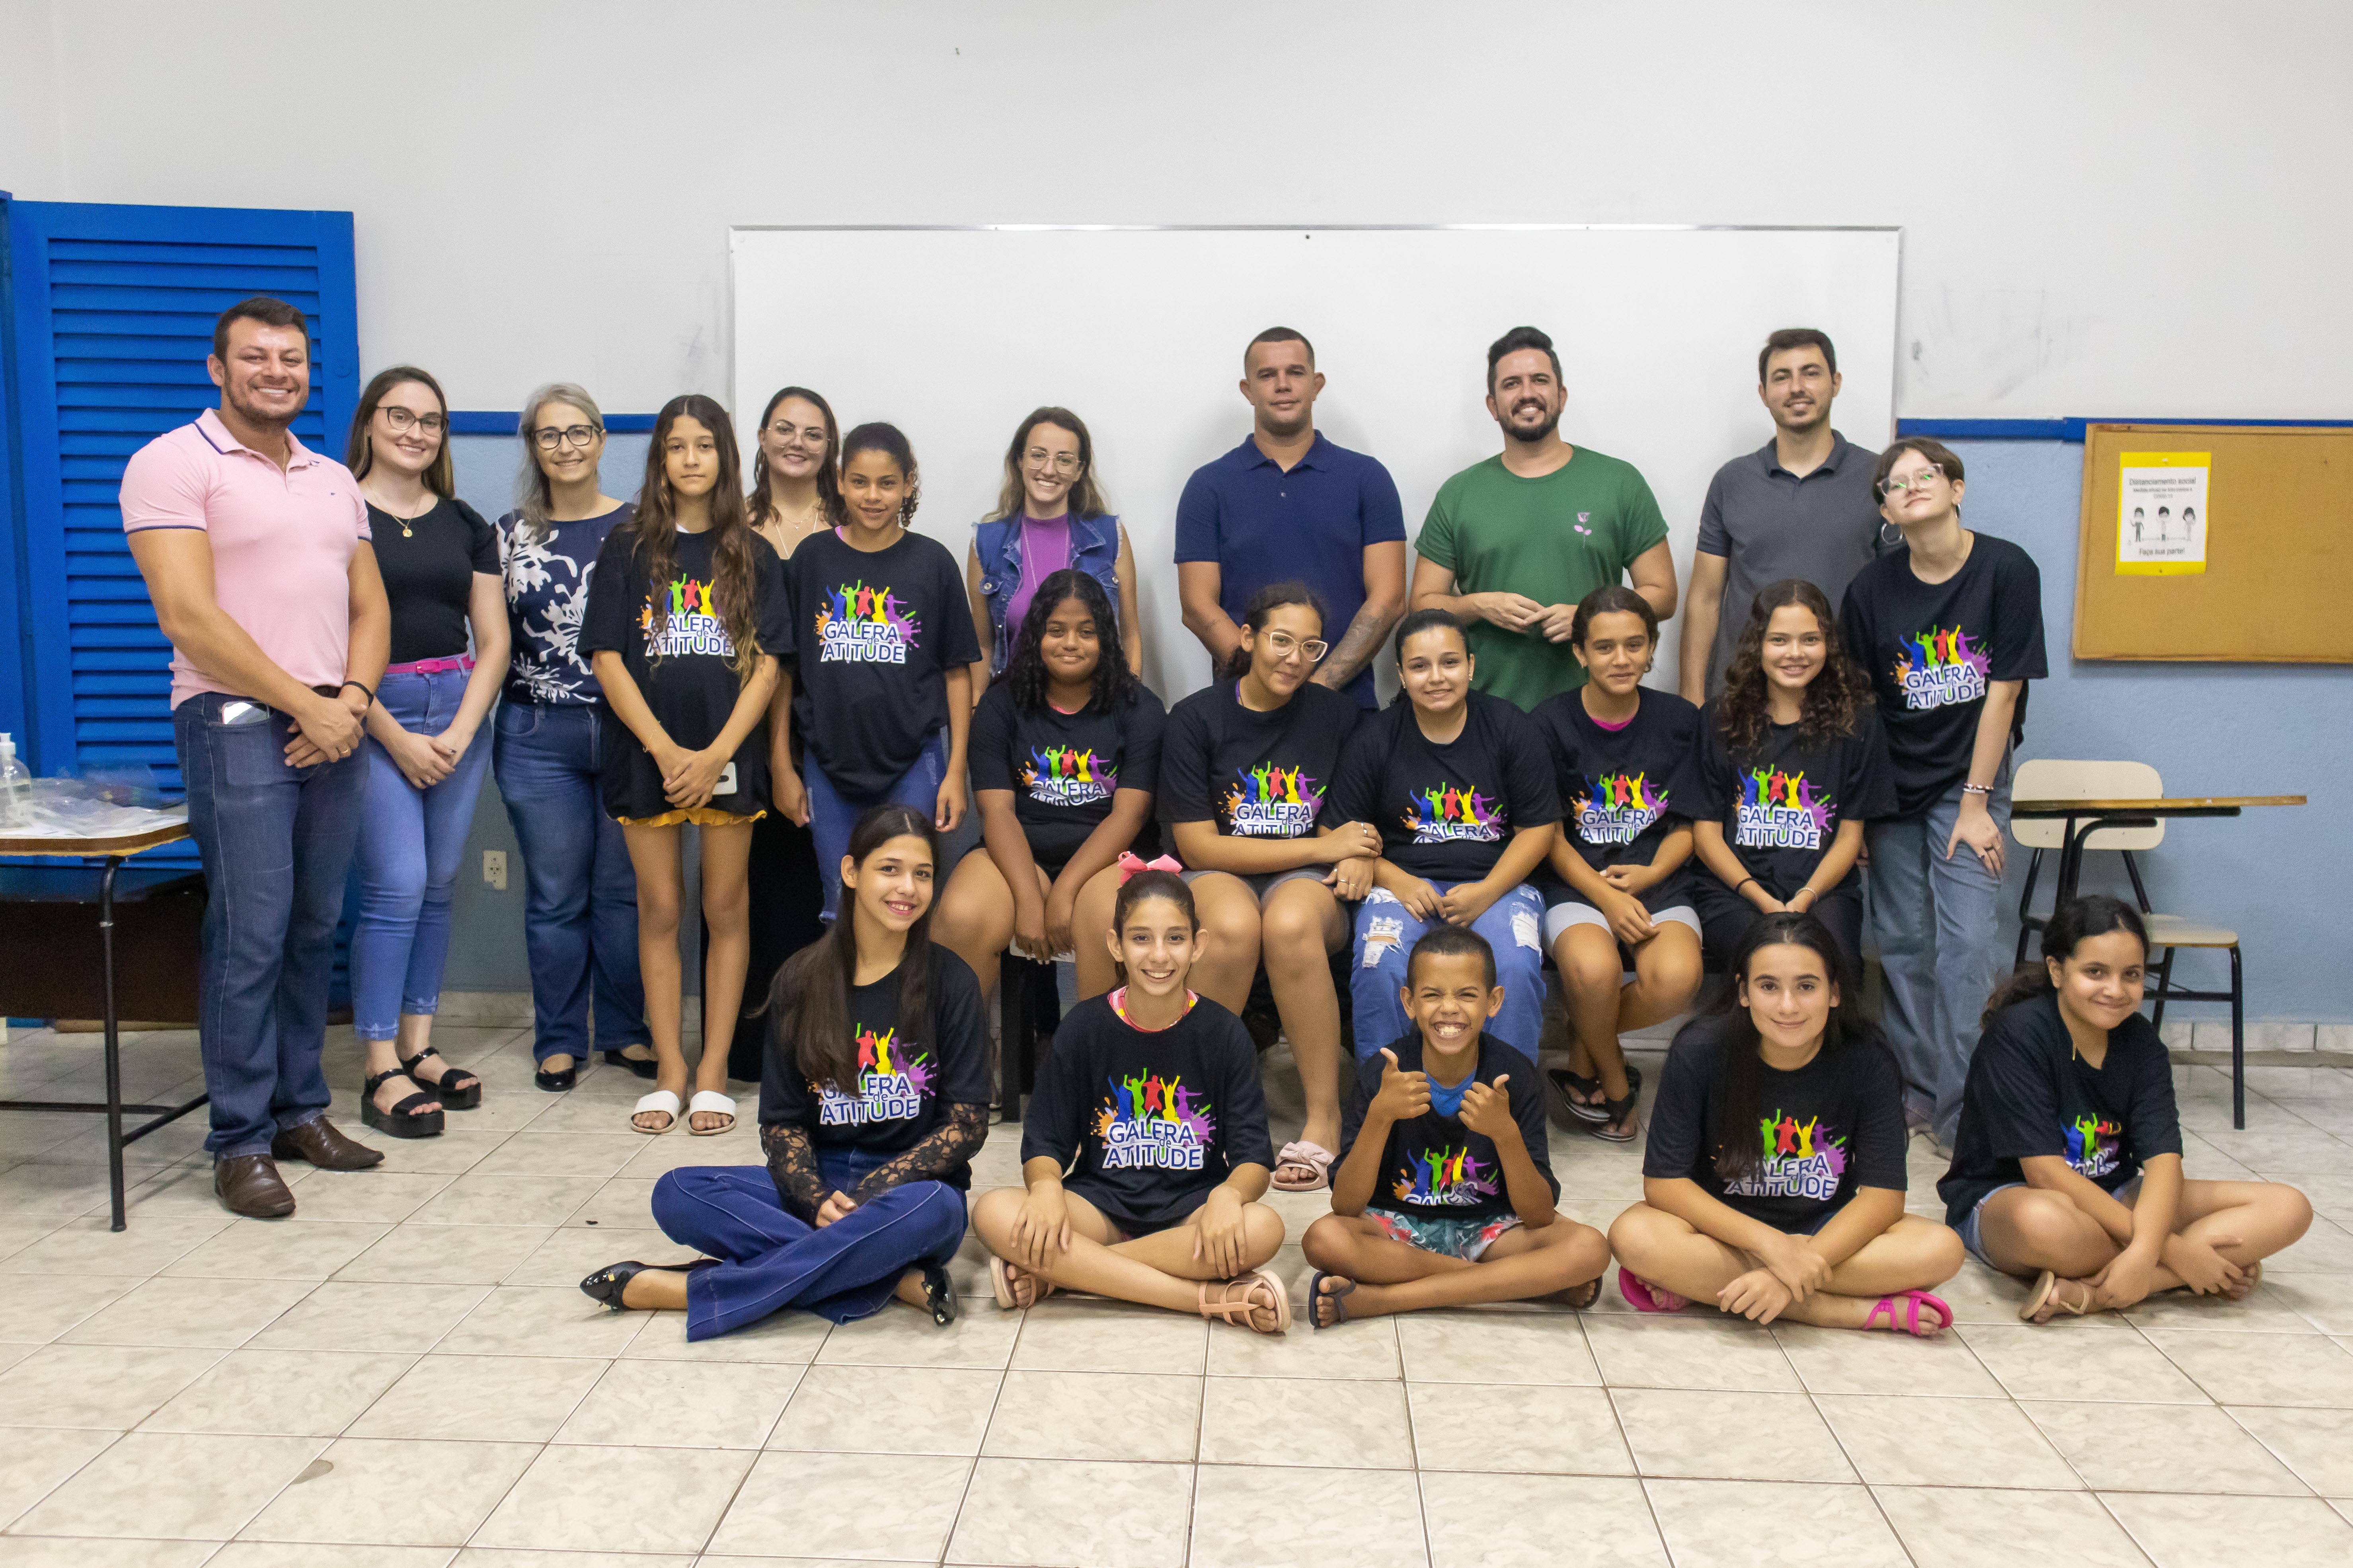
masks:
[[(842, 1192), (871, 1164), (819, 1159)], [(687, 1338), (711, 1340), (784, 1307), (828, 1324), (873, 1316), (911, 1267), (955, 1255), (965, 1194), (906, 1182), (816, 1229), (786, 1213), (767, 1166), (685, 1166), (654, 1182), (654, 1222), (671, 1241), (720, 1260), (687, 1274)]]

